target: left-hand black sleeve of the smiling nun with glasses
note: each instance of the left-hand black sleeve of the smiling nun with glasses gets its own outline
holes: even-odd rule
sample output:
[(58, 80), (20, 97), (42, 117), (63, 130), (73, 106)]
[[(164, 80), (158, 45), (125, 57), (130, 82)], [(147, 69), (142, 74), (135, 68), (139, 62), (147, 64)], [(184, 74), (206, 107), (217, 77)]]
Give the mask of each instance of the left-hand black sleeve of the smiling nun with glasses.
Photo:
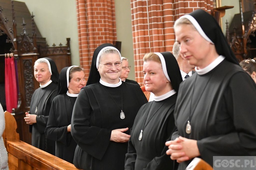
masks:
[(108, 148), (112, 131), (90, 125), (91, 112), (93, 112), (90, 104), (92, 98), (93, 95), (89, 100), (85, 89), (81, 89), (73, 109), (71, 134), (79, 147), (101, 160)]

